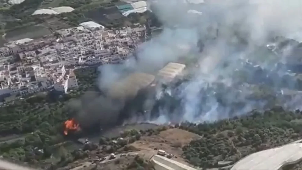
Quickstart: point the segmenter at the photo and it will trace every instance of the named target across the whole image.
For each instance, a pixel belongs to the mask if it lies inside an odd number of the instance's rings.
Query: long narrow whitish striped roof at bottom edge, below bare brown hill
[[[196,168],[189,167],[188,165],[160,155],[154,155],[151,159],[151,163],[155,170],[197,170]]]

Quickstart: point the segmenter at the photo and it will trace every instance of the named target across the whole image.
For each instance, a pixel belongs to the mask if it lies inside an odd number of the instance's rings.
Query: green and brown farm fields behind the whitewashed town
[[[137,20],[128,20],[118,11],[113,12],[111,10],[119,2],[111,2],[111,0],[25,0],[21,4],[7,4],[0,8],[3,23],[3,30],[0,35],[6,34],[7,41],[15,41],[22,38],[40,38],[43,35],[52,34],[51,31],[76,27],[79,23],[89,20],[95,20],[105,25],[108,23],[106,25],[108,27],[125,26],[123,20],[127,21],[126,25],[137,23]],[[0,6],[5,3],[0,2]],[[75,10],[71,13],[62,13],[55,16],[31,15],[37,9],[59,6],[70,6]],[[102,15],[96,16],[96,14],[99,14],[97,11],[103,11],[100,13]]]

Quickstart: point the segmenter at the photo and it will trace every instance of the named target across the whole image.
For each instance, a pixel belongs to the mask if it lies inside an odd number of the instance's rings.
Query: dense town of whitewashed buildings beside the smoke
[[[146,38],[146,27],[108,30],[92,21],[40,39],[21,39],[0,49],[0,95],[28,95],[77,88],[74,69],[119,63]]]

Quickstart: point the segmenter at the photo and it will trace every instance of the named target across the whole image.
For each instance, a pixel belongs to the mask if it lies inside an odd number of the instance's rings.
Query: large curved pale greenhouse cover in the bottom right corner
[[[250,154],[231,170],[281,170],[286,165],[302,161],[302,143],[291,143]]]

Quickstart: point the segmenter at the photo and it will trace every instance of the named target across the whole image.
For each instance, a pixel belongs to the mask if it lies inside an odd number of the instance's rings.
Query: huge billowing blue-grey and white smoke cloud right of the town
[[[101,90],[127,71],[155,74],[168,62],[193,55],[198,56],[199,67],[190,70],[189,81],[157,95],[175,98],[177,107],[170,109],[173,102],[166,101],[166,106],[156,111],[158,116],[148,115],[147,121],[216,121],[284,103],[290,109],[300,108],[299,97],[279,101],[277,96],[281,87],[294,87],[296,83],[286,79],[286,69],[276,69],[277,63],[288,60],[292,45],[278,47],[279,51],[266,45],[273,42],[275,47],[283,42],[276,36],[300,40],[301,1],[208,0],[191,5],[183,0],[160,0],[149,4],[164,31],[140,45],[139,62],[132,57],[120,65],[100,67]],[[204,44],[202,52],[196,48],[198,40]]]

